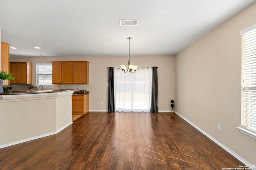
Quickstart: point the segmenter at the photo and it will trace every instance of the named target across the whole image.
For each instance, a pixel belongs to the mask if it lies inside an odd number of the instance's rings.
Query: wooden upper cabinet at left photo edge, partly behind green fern
[[[1,42],[1,71],[7,71],[7,73],[10,73],[9,71],[9,44]],[[11,72],[12,73],[12,72]],[[5,80],[3,82],[4,86],[9,85],[9,81]]]

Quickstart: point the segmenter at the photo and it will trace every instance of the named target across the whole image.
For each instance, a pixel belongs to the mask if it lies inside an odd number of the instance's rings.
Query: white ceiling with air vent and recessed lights
[[[253,2],[0,0],[1,41],[11,57],[128,55],[127,37],[130,55],[174,55]]]

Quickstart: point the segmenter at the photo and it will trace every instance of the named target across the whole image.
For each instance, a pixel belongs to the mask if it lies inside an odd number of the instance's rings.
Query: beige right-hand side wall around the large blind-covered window
[[[239,32],[254,24],[256,3],[175,56],[176,111],[253,165],[256,139],[236,127],[241,125]]]

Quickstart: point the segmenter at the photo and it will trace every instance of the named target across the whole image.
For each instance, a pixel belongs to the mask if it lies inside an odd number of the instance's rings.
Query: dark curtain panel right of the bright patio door
[[[152,94],[151,94],[152,96],[151,96],[151,107],[150,107],[151,113],[158,113],[158,108],[157,108],[157,96],[158,96],[157,68],[158,67],[152,67]]]

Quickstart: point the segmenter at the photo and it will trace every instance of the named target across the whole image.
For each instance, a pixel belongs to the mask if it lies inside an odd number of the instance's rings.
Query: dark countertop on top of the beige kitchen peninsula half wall
[[[0,93],[0,95],[16,95],[16,94],[39,94],[39,93],[56,93],[56,92],[68,92],[79,89],[65,88],[58,90],[34,90],[34,91],[12,91],[11,93]]]

